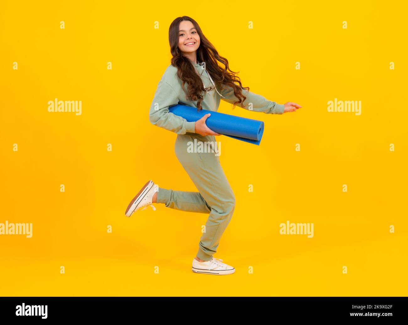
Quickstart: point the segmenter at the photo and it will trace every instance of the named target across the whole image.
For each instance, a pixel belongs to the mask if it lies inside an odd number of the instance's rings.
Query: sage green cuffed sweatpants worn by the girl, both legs
[[[204,143],[215,152],[188,152],[187,148],[194,139],[209,141]],[[159,187],[157,203],[182,211],[209,213],[205,232],[200,238],[197,257],[211,260],[217,252],[220,238],[224,233],[235,208],[235,196],[222,170],[220,157],[216,155],[215,136],[189,136],[177,134],[174,149],[188,176],[190,176],[198,192],[175,191]],[[212,143],[211,143],[212,142]],[[209,148],[209,147],[207,147]]]

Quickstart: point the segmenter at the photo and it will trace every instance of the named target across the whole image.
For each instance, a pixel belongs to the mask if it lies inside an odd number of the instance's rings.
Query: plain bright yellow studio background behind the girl
[[[0,294],[405,296],[406,12],[401,1],[3,1],[0,223],[33,223],[33,237],[0,236]],[[303,106],[220,105],[265,122],[260,146],[216,137],[237,199],[215,254],[236,268],[229,276],[191,271],[206,214],[156,204],[124,216],[149,179],[196,191],[176,134],[148,118],[182,15],[244,86]],[[48,112],[54,98],[82,100],[82,115]],[[329,113],[334,98],[361,100],[361,116]],[[286,220],[314,223],[314,237],[280,235]]]

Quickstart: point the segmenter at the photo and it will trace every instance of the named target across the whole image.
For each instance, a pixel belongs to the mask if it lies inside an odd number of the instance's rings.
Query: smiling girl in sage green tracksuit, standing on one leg
[[[190,176],[198,192],[175,191],[158,187],[149,180],[131,200],[125,215],[144,210],[152,203],[164,203],[166,207],[191,212],[209,213],[205,232],[202,234],[192,270],[203,274],[231,274],[235,268],[214,258],[220,238],[235,208],[235,196],[215,155],[215,136],[220,134],[206,126],[204,115],[196,122],[187,122],[169,111],[177,104],[217,111],[220,100],[241,104],[248,109],[265,114],[284,114],[302,107],[293,102],[277,104],[242,87],[240,78],[228,66],[228,60],[220,56],[202,33],[200,26],[188,16],[178,17],[169,28],[170,51],[173,56],[159,81],[149,112],[153,125],[177,134],[175,154]],[[225,68],[218,65],[221,62]],[[228,72],[230,71],[230,72]],[[237,82],[239,85],[236,85]],[[249,110],[249,109],[248,109]],[[188,152],[188,142],[210,141],[210,152]],[[208,142],[206,142],[208,143]],[[191,150],[190,150],[191,151]],[[195,150],[196,151],[196,150]]]

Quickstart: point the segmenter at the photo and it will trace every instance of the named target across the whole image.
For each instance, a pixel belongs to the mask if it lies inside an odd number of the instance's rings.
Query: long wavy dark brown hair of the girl
[[[191,64],[191,61],[188,58],[182,55],[182,52],[178,47],[179,25],[183,20],[191,21],[200,36],[200,47],[198,47],[196,53],[197,61],[205,62],[206,70],[216,86],[222,87],[222,85],[228,85],[234,89],[234,95],[238,100],[233,103],[233,108],[235,108],[235,105],[243,103],[246,97],[242,94],[242,89],[249,90],[249,87],[242,87],[241,79],[235,75],[237,72],[234,72],[229,68],[228,60],[218,54],[215,47],[204,36],[197,22],[193,18],[182,16],[177,17],[170,25],[169,43],[171,55],[173,56],[171,59],[171,65],[177,67],[177,76],[182,80],[182,88],[184,92],[184,85],[187,83],[186,98],[192,101],[197,100],[197,108],[201,110],[201,102],[204,99],[202,91],[212,90],[213,86],[204,88],[203,82],[200,75],[195,70],[195,67]],[[221,62],[224,65],[224,68],[220,67],[218,62]],[[237,82],[239,86],[236,85],[235,82]],[[245,106],[241,104],[241,107]]]

